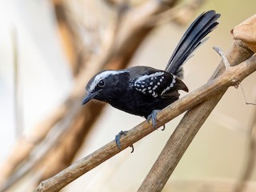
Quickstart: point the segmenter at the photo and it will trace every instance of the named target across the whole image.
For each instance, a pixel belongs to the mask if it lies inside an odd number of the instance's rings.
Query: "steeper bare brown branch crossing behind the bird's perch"
[[[254,53],[247,49],[242,42],[235,41],[231,47],[230,53],[227,54],[230,65],[234,67],[229,67],[227,70],[234,69],[237,67],[235,65],[238,65],[240,62],[250,58],[253,54]],[[254,59],[254,57],[243,63],[252,61],[252,59]],[[215,70],[210,81],[216,77],[221,77],[224,70],[224,64],[221,62],[221,65],[219,65],[218,69]],[[225,73],[226,72],[224,72],[224,74]],[[234,80],[239,79],[234,78],[231,81]],[[172,174],[175,167],[178,165],[179,160],[182,158],[182,155],[190,145],[190,142],[192,142],[194,136],[198,133],[198,130],[202,126],[203,122],[206,121],[206,118],[208,118],[211,111],[214,110],[214,107],[218,104],[218,101],[222,98],[225,91],[226,89],[222,90],[218,94],[215,94],[214,97],[208,98],[205,102],[202,102],[198,106],[195,106],[193,109],[186,112],[182,121],[178,124],[178,127],[171,135],[166,146],[162,150],[162,153],[159,155],[157,161],[151,168],[150,173],[147,174],[138,191],[162,190],[168,178],[170,178],[170,174]]]

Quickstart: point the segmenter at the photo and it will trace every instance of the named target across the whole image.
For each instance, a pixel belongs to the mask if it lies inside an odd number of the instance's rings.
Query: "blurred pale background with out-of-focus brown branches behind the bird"
[[[144,121],[110,105],[81,105],[86,83],[97,71],[138,65],[164,69],[194,18],[216,10],[222,14],[218,28],[186,62],[184,82],[195,90],[221,61],[212,47],[228,52],[230,30],[256,7],[254,0],[167,2],[1,2],[0,191],[32,191],[120,130]],[[231,191],[250,152],[256,109],[246,100],[256,102],[255,81],[251,74],[242,82],[246,99],[241,87],[230,87],[163,191]],[[63,191],[136,191],[181,118],[135,143],[133,154],[122,151]],[[255,180],[253,171],[251,187]]]

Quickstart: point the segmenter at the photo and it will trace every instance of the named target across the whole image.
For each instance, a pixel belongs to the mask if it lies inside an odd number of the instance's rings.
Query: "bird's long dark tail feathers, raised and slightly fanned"
[[[217,19],[220,16],[221,15],[216,14],[214,10],[209,10],[206,13],[199,15],[198,18],[192,22],[182,39],[178,42],[178,46],[175,48],[174,53],[171,55],[166,66],[166,71],[182,78],[182,64],[201,44],[202,39],[218,25]]]

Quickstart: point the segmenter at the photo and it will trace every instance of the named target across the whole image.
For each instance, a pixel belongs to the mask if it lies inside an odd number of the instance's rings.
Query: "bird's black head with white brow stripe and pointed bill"
[[[82,105],[91,99],[110,102],[118,97],[118,93],[122,91],[122,85],[128,83],[128,80],[129,74],[126,70],[104,70],[95,74],[86,86],[87,95],[83,99]]]

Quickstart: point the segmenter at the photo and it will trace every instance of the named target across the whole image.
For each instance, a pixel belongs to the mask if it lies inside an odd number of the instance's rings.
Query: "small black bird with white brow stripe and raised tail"
[[[132,66],[123,70],[103,70],[95,74],[86,85],[86,97],[82,105],[92,99],[107,102],[118,110],[145,117],[156,128],[156,118],[162,110],[178,100],[178,90],[188,92],[183,78],[183,64],[196,48],[218,26],[215,10],[208,10],[191,23],[178,42],[165,70],[150,66]],[[198,70],[198,73],[201,73]],[[121,131],[115,141],[121,150]]]

